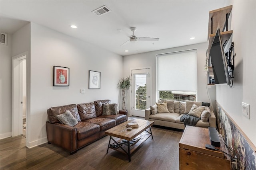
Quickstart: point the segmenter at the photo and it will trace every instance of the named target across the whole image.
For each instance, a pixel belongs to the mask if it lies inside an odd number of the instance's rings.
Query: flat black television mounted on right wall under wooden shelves
[[[215,84],[230,84],[228,65],[220,36],[220,29],[217,30],[212,42],[210,57]]]

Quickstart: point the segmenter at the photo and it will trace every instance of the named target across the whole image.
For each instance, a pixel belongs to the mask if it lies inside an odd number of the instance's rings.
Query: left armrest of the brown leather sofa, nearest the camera
[[[77,150],[76,133],[76,127],[55,123],[54,144],[69,150],[70,154],[73,154]]]

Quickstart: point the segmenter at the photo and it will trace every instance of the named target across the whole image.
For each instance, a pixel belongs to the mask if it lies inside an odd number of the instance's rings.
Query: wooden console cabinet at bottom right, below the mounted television
[[[186,126],[180,139],[180,170],[231,170],[231,160],[223,152],[205,148],[210,144],[208,128]],[[228,153],[221,142],[216,149]]]

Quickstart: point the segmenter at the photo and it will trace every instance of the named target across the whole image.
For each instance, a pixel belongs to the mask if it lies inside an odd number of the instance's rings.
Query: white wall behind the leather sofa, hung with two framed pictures
[[[52,86],[53,66],[70,68],[70,86]],[[101,72],[100,89],[88,89],[89,70]],[[31,107],[29,146],[47,141],[46,110],[52,106],[110,99],[118,102],[122,56],[31,23]],[[80,89],[85,93],[81,94]]]

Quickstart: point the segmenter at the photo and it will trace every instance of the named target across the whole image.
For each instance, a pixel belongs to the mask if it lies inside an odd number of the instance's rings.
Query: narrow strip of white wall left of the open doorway
[[[12,35],[0,44],[0,139],[12,135]]]

